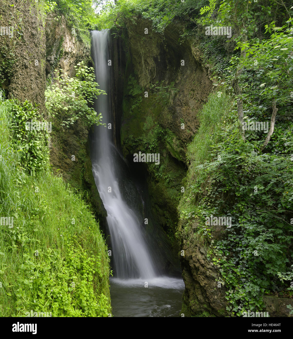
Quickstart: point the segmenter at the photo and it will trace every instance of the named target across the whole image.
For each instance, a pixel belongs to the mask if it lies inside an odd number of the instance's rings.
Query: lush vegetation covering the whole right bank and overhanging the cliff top
[[[162,36],[177,23],[181,43],[198,39],[212,69],[216,91],[188,146],[177,236],[209,248],[232,316],[261,310],[264,294],[293,293],[290,7],[275,0],[120,0],[107,2],[98,19],[100,28],[115,31],[146,18]],[[210,25],[231,27],[231,37],[205,35]],[[251,122],[267,123],[268,129],[245,130]],[[211,214],[232,218],[223,239],[213,238],[213,226],[205,225]]]

